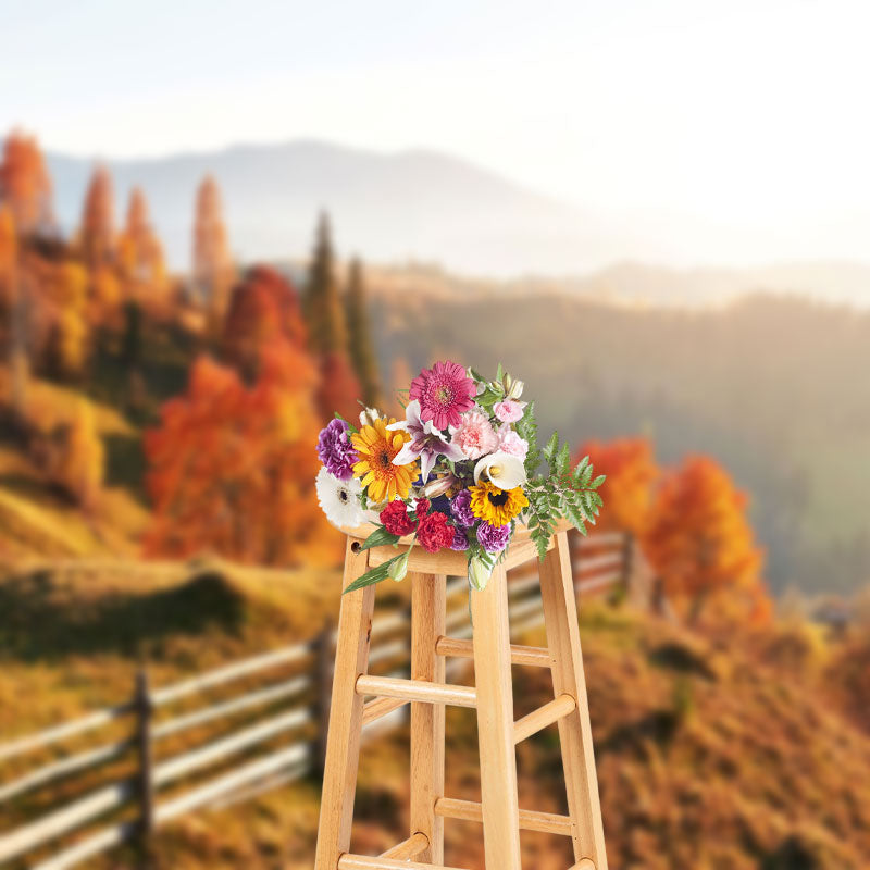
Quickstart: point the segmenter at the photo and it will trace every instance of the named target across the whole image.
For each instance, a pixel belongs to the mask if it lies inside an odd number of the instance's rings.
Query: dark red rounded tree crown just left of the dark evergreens
[[[251,381],[260,371],[263,351],[279,341],[300,350],[307,346],[299,297],[276,270],[258,265],[248,271],[229,298],[223,355]]]

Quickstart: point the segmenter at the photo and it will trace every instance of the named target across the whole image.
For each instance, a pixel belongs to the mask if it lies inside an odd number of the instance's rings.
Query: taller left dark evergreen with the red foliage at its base
[[[353,417],[361,398],[360,386],[348,356],[345,308],[335,276],[335,254],[326,214],[321,215],[318,224],[302,311],[308,324],[309,347],[320,362],[318,407],[321,419],[331,418],[335,411]]]

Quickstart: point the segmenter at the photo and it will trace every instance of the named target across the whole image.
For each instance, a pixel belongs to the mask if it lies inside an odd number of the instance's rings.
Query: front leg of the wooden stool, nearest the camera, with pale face
[[[521,870],[508,584],[502,567],[495,569],[483,592],[471,593],[471,613],[486,870]]]

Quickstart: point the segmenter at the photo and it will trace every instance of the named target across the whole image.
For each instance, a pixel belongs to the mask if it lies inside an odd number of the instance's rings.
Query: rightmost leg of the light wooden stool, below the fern
[[[556,546],[540,566],[540,594],[556,696],[567,693],[576,699],[574,712],[559,720],[568,809],[574,829],[574,859],[589,858],[596,870],[607,870],[576,599],[564,532],[557,535]]]

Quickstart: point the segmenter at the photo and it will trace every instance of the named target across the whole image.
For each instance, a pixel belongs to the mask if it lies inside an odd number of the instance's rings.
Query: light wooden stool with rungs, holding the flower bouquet
[[[511,645],[506,572],[537,551],[518,529],[507,558],[484,592],[471,593],[474,639],[445,636],[447,575],[465,573],[465,554],[412,548],[411,679],[368,674],[375,586],[341,599],[330,733],[314,870],[423,870],[444,868],[444,819],[483,823],[487,870],[521,870],[520,829],[570,836],[570,870],[607,870],[598,782],[571,559],[564,531],[550,540],[540,564],[540,593],[548,649]],[[345,558],[345,586],[396,555],[393,547],[361,550],[368,531],[352,530]],[[405,549],[408,549],[406,546]],[[475,687],[447,685],[445,658],[474,659]],[[511,663],[550,668],[555,698],[513,721]],[[372,700],[364,703],[369,696]],[[376,858],[349,854],[353,797],[363,723],[411,704],[410,836]],[[476,707],[481,804],[444,794],[444,705]],[[521,810],[517,801],[515,745],[558,722],[569,816]],[[445,868],[444,870],[450,870]]]

